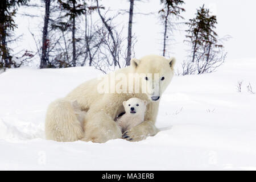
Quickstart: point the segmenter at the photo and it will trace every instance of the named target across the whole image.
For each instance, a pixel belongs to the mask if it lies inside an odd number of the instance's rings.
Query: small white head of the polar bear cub
[[[144,115],[147,108],[147,101],[134,97],[127,101],[123,101],[123,107],[125,107],[125,113],[127,114]]]

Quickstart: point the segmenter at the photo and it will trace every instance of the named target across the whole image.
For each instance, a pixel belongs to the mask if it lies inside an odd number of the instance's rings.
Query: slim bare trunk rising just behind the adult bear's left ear
[[[128,46],[127,46],[127,57],[126,57],[126,65],[129,66],[131,63],[131,39],[132,39],[132,34],[131,34],[131,29],[133,26],[133,5],[134,5],[134,0],[130,0],[130,10],[129,10],[129,26],[128,26]]]

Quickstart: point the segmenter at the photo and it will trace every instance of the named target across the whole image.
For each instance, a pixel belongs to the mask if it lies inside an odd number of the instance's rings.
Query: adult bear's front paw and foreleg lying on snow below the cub
[[[123,139],[129,140],[131,142],[137,142],[144,140],[147,137],[155,136],[158,131],[159,130],[150,121],[144,121],[140,125],[125,131],[125,133],[123,133]]]

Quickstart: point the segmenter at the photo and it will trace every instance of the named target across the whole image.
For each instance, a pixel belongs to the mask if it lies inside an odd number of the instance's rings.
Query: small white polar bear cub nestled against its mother
[[[125,114],[117,119],[117,124],[122,133],[144,121],[147,101],[134,97],[123,101],[123,107],[125,107]]]

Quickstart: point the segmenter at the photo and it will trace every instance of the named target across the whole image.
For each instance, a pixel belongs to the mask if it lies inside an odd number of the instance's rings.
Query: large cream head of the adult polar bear
[[[148,100],[160,100],[174,76],[175,62],[174,57],[166,59],[163,56],[156,55],[131,60],[131,67],[133,67],[134,73],[138,73],[141,89],[146,90],[143,93],[147,94]],[[143,88],[145,85],[146,88]]]

